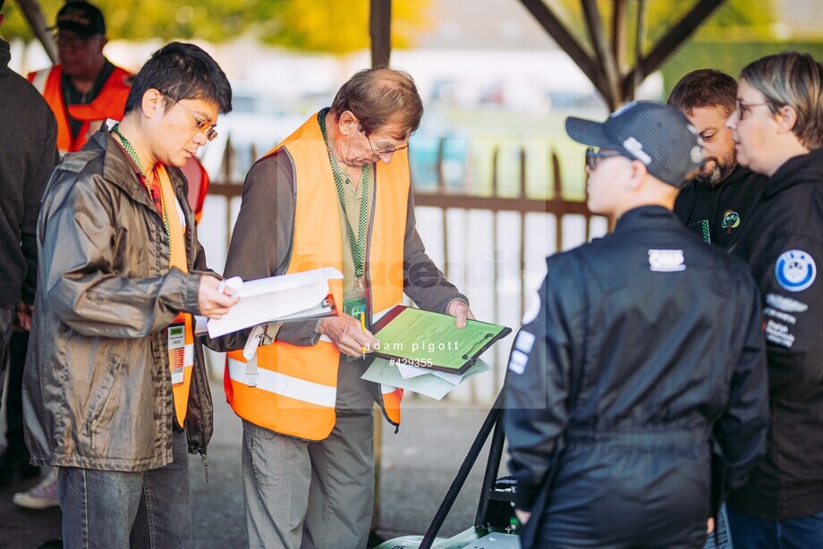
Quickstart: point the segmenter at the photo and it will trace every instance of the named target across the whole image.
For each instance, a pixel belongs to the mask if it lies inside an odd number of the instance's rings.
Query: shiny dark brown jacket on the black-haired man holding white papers
[[[32,462],[140,471],[172,461],[174,401],[165,327],[198,313],[206,257],[182,173],[190,274],[169,269],[163,219],[123,149],[98,131],[67,155],[38,219],[38,294],[23,379]],[[212,402],[195,345],[189,447],[205,452]]]

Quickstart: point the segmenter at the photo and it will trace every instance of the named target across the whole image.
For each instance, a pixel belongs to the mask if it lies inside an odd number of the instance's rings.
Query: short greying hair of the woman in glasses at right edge
[[[797,113],[794,135],[810,150],[823,148],[823,65],[814,57],[767,55],[746,65],[740,78],[766,97],[773,113],[792,106]]]

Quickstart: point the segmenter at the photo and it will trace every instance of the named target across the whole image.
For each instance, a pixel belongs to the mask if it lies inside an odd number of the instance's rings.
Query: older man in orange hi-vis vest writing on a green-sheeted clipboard
[[[355,74],[321,110],[252,166],[226,275],[255,279],[334,266],[342,314],[284,325],[259,347],[256,381],[229,353],[225,391],[243,419],[251,547],[365,547],[374,497],[373,402],[400,423],[402,391],[361,379],[373,320],[407,293],[421,308],[471,317],[415,229],[411,132],[423,106],[404,72]],[[367,324],[370,324],[367,322]],[[223,344],[237,349],[242,341]],[[242,338],[239,338],[242,340]]]

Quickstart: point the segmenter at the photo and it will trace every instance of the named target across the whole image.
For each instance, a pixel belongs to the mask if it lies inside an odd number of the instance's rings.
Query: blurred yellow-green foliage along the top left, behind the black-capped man
[[[64,0],[39,0],[48,25]],[[430,0],[392,3],[392,45],[411,45]],[[271,46],[345,54],[369,46],[369,0],[93,0],[111,39],[208,40],[244,33]],[[6,0],[4,38],[34,38],[16,0]]]

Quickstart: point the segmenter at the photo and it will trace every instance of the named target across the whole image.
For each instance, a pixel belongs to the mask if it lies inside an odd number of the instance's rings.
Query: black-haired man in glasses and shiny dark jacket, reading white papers
[[[67,547],[191,546],[187,449],[205,456],[212,431],[192,315],[236,298],[208,271],[179,168],[231,108],[217,63],[169,44],[123,121],[49,182],[23,406],[32,461],[58,466]]]

